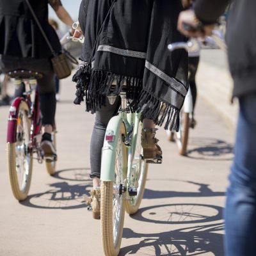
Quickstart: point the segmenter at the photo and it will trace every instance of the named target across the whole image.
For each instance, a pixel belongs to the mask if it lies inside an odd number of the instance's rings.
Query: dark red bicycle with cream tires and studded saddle
[[[37,79],[42,74],[31,70],[13,70],[8,76],[14,78],[16,88],[21,93],[13,100],[8,117],[7,159],[13,195],[17,200],[28,196],[33,169],[33,155],[38,163],[45,160],[47,172],[53,175],[57,156],[44,157],[40,147],[42,139],[42,116],[37,89]],[[56,147],[56,129],[52,132]]]

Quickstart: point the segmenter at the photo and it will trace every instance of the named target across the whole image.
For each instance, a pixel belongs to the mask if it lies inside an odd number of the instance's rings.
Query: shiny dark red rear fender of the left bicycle
[[[18,120],[18,109],[20,103],[25,101],[22,97],[17,97],[12,102],[12,106],[9,109],[8,115],[8,125],[7,125],[7,143],[15,143],[17,141],[16,132],[17,132],[17,120]]]

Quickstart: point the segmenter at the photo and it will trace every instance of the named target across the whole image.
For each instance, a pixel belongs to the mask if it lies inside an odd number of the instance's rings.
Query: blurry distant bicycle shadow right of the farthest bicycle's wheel
[[[234,157],[234,144],[215,138],[190,138],[186,156],[198,160],[229,161]]]

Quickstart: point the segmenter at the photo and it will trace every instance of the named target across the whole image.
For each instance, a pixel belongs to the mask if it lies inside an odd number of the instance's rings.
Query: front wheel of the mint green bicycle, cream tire
[[[141,200],[144,195],[144,190],[145,190],[145,185],[146,185],[146,180],[147,180],[147,173],[148,173],[148,163],[143,161],[143,149],[141,147],[141,125],[139,125],[138,128],[138,136],[136,140],[136,149],[134,153],[134,159],[132,161],[132,168],[135,168],[134,172],[134,179],[132,180],[134,184],[130,185],[132,187],[137,187],[137,195],[136,196],[131,196],[130,200],[125,200],[125,211],[128,214],[134,214],[138,211]],[[140,171],[141,169],[141,171]],[[139,175],[139,176],[138,176]],[[136,186],[137,180],[136,176],[138,176],[138,186]]]

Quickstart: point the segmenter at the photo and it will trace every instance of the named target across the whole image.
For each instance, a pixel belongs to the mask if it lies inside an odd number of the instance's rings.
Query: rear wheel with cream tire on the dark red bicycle
[[[7,143],[7,159],[10,184],[17,200],[25,200],[28,196],[33,169],[32,152],[28,151],[30,142],[31,120],[28,118],[28,105],[20,102],[17,115],[17,141]]]

